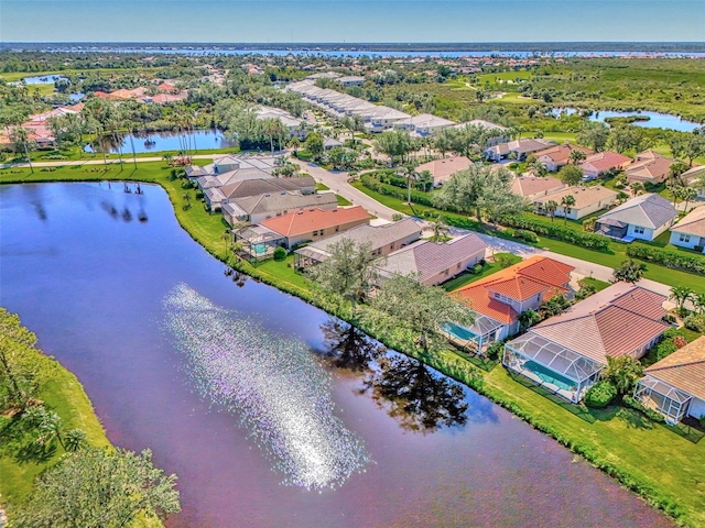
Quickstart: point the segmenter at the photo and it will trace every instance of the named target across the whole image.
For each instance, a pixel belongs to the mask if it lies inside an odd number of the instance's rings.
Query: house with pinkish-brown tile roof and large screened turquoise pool
[[[670,327],[665,296],[629,283],[612,286],[532,327],[505,345],[502,364],[577,404],[608,358],[638,360]]]

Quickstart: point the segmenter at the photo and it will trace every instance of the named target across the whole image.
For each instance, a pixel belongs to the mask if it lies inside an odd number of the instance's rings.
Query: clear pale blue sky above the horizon
[[[705,41],[703,0],[0,0],[2,42]]]

